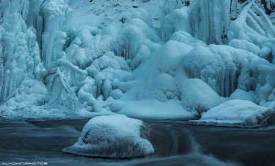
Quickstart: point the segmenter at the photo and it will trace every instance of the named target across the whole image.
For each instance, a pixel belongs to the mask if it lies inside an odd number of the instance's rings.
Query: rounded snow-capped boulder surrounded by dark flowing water
[[[78,142],[63,152],[83,156],[134,158],[154,152],[149,129],[141,120],[125,115],[94,117],[84,126]]]

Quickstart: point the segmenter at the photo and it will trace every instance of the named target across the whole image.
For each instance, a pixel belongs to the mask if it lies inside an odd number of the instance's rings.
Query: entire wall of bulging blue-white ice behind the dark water
[[[268,107],[273,15],[254,0],[2,0],[1,116],[191,118],[232,99]]]

